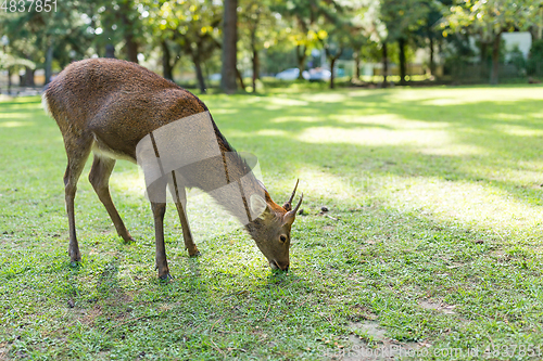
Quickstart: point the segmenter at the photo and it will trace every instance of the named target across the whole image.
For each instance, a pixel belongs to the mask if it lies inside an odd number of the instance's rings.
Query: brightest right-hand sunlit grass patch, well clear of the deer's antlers
[[[417,210],[465,229],[493,229],[500,234],[520,232],[517,236],[543,241],[543,235],[536,235],[536,228],[543,225],[541,204],[521,202],[492,183],[392,176],[381,181],[382,189],[387,190],[383,194],[386,203],[402,211]],[[376,183],[380,184],[379,179]]]

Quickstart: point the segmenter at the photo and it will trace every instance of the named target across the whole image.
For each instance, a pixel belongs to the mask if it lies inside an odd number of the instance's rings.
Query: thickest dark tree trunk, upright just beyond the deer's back
[[[236,92],[237,42],[238,42],[238,0],[225,0],[223,16],[223,69],[220,88],[227,94]]]

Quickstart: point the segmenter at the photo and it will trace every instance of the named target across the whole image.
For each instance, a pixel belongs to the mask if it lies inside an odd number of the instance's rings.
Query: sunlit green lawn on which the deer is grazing
[[[301,179],[291,270],[272,273],[192,197],[202,256],[186,254],[169,206],[167,284],[126,162],[112,194],[137,242],[116,235],[87,165],[83,262],[70,266],[60,131],[38,98],[0,103],[0,359],[348,360],[392,346],[399,358],[540,359],[543,87],[299,87],[202,96],[258,156],[276,202]]]

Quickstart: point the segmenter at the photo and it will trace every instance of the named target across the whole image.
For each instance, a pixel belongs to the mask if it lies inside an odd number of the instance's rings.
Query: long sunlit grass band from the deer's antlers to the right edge
[[[330,201],[343,207],[359,207],[376,198],[400,211],[416,211],[464,229],[494,229],[500,234],[517,233],[517,236],[543,241],[543,235],[536,235],[540,233],[538,227],[543,227],[543,199],[523,202],[493,182],[400,177],[362,170],[356,180],[349,180],[318,167],[302,168],[300,178],[303,180],[300,189],[306,195],[305,205],[316,211]]]

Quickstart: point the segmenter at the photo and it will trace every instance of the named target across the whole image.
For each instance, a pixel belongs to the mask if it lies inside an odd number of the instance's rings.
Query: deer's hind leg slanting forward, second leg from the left
[[[98,156],[94,154],[94,159],[92,162],[92,168],[89,173],[89,181],[92,184],[92,188],[98,194],[100,202],[108,210],[115,229],[117,230],[117,234],[125,240],[125,242],[134,241],[132,236],[126,230],[125,223],[121,216],[118,215],[113,201],[111,199],[110,194],[110,176],[113,171],[113,167],[115,167],[115,159]]]

